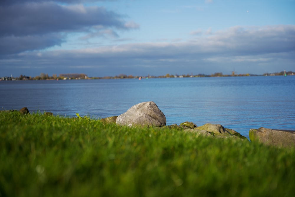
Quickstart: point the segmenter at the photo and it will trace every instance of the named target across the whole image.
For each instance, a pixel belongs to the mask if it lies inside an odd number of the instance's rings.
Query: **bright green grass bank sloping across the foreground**
[[[293,196],[295,150],[0,112],[0,196]]]

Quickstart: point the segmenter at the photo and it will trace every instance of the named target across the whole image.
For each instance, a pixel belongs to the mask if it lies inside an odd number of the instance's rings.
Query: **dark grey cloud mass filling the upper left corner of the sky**
[[[54,1],[1,1],[0,40],[3,44],[0,55],[60,45],[65,42],[66,35],[73,32],[86,32],[89,38],[118,37],[114,29],[140,27],[135,22],[125,21],[125,17],[98,6],[60,5]]]

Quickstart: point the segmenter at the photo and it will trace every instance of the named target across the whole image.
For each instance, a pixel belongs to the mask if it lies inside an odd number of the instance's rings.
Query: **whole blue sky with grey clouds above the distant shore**
[[[0,76],[295,71],[295,0],[1,0]]]

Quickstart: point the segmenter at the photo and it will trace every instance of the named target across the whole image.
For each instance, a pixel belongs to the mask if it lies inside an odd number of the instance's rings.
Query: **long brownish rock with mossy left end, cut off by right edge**
[[[249,138],[251,141],[259,141],[263,144],[278,147],[295,146],[295,131],[260,127],[258,129],[250,129]]]

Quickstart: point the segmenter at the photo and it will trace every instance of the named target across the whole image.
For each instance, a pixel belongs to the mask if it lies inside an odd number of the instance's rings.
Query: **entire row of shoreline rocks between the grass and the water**
[[[9,110],[17,111],[17,110]],[[21,114],[30,114],[29,110],[24,107],[19,110]],[[51,112],[45,112],[45,115],[53,115]],[[204,124],[197,126],[192,122],[183,122],[180,125],[173,124],[166,126],[166,118],[163,112],[158,108],[155,102],[142,102],[132,106],[129,110],[119,116],[102,118],[104,124],[117,124],[126,126],[140,126],[153,128],[173,128],[184,132],[196,133],[196,136],[206,136],[210,138],[232,138],[238,140],[247,140],[235,130],[224,128],[220,124]],[[260,127],[258,129],[250,129],[250,141],[258,141],[260,143],[277,146],[277,147],[295,147],[295,131],[276,130]]]

